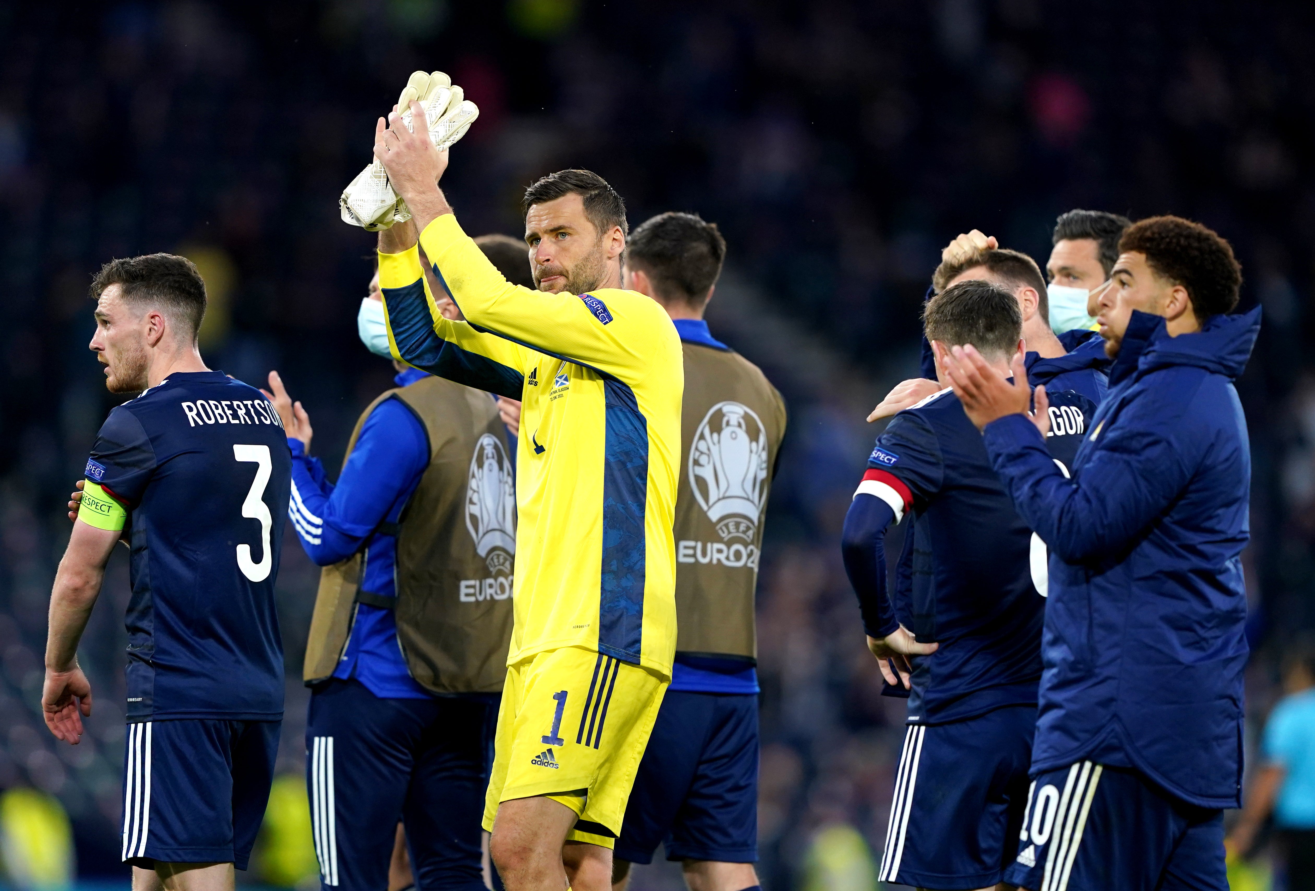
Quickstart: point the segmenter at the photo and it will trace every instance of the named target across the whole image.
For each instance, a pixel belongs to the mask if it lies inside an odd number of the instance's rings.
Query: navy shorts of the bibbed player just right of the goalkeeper
[[[626,804],[615,859],[757,859],[757,696],[667,691]]]

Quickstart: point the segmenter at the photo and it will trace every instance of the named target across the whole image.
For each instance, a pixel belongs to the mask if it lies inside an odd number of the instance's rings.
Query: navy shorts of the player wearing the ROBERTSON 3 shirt
[[[281,726],[224,719],[129,724],[124,862],[245,870],[270,803]]]

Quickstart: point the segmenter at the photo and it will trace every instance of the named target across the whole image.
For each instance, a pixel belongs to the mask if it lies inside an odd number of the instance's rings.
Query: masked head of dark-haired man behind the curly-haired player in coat
[[[1105,211],[1069,211],[1055,221],[1045,275],[1051,283],[1051,329],[1097,330],[1097,300],[1110,286],[1110,270],[1119,259],[1119,238],[1132,221]]]

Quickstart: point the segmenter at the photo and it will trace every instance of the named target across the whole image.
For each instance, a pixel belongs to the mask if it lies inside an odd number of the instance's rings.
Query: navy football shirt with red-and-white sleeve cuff
[[[1051,417],[1063,422],[1052,425],[1047,445],[1068,465],[1097,407],[1072,390],[1049,396]],[[909,721],[959,721],[1035,703],[1044,545],[1014,509],[959,397],[944,390],[899,412],[877,438],[864,480],[860,492],[885,487],[897,519],[914,520],[896,616],[919,641],[940,644],[914,661]]]

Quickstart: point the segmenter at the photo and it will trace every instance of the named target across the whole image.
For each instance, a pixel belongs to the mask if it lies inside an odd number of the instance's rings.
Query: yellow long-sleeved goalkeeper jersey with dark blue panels
[[[634,291],[513,286],[452,215],[419,245],[467,321],[439,315],[414,247],[380,254],[393,354],[522,401],[508,665],[583,646],[669,678],[685,383],[676,326]]]

